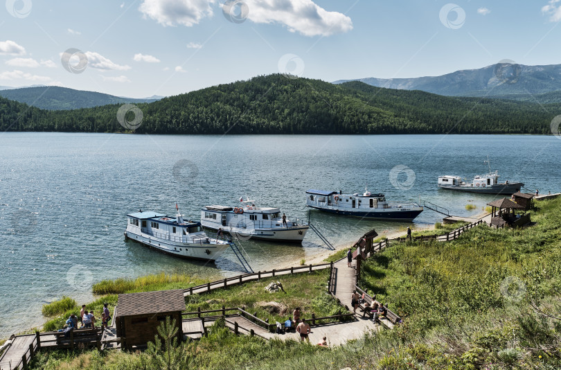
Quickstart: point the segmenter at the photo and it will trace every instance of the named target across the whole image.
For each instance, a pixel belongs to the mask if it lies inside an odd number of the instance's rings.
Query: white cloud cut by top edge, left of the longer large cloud
[[[213,15],[215,0],[143,0],[139,10],[163,26],[193,26]]]

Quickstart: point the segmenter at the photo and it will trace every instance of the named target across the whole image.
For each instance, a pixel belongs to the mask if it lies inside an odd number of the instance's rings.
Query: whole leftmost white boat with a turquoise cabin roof
[[[179,211],[175,216],[139,211],[127,219],[125,237],[173,256],[214,261],[231,245],[208,238],[200,222],[184,220]]]

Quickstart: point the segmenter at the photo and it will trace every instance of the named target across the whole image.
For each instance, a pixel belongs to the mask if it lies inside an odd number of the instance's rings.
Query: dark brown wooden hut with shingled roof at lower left
[[[119,294],[116,313],[117,336],[121,337],[121,348],[144,347],[154,342],[158,326],[175,319],[177,339],[182,340],[181,311],[185,310],[183,290],[160,290]]]

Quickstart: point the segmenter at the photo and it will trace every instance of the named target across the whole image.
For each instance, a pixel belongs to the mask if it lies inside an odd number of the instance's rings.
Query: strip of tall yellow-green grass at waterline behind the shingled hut
[[[150,274],[136,279],[103,280],[91,288],[94,294],[121,294],[154,290],[185,289],[206,283],[187,274]]]

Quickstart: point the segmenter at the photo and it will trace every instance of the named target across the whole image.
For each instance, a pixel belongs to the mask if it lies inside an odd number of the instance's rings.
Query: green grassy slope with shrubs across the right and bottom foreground
[[[393,331],[328,351],[216,331],[185,351],[197,353],[201,369],[559,369],[561,325],[529,303],[560,316],[561,199],[538,206],[528,229],[480,227],[451,243],[393,245],[369,260],[362,286],[404,317]],[[66,356],[69,369],[138,369],[142,357]]]

